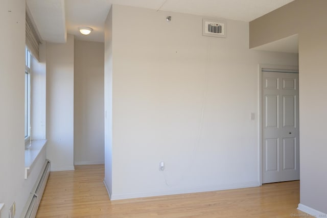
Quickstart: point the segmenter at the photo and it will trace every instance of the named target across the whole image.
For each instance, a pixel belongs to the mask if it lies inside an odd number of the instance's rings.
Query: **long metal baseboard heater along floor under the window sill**
[[[50,173],[50,160],[46,159],[42,171],[31,191],[26,206],[23,212],[21,213],[21,217],[34,218],[36,216],[36,212],[39,207],[46,182],[48,181],[49,173]]]

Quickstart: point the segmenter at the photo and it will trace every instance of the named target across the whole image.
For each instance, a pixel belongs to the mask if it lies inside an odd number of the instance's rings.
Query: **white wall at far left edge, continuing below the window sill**
[[[13,202],[15,217],[20,216],[43,166],[45,152],[25,180],[25,1],[2,1],[0,8],[0,23],[6,29],[0,40],[0,203],[5,203],[0,217],[6,218]]]

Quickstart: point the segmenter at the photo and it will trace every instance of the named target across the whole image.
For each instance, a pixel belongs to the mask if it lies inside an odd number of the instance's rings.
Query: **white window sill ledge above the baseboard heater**
[[[32,140],[31,149],[25,150],[25,179],[29,176],[34,163],[41,151],[45,148],[46,139]]]

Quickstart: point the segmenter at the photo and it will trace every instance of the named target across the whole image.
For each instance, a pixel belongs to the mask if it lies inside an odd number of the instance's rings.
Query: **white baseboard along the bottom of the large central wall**
[[[257,186],[260,186],[260,183],[258,181],[242,183],[242,184],[217,185],[217,186],[210,186],[210,187],[195,187],[195,188],[172,189],[172,190],[162,190],[162,191],[122,193],[122,194],[118,194],[118,195],[111,195],[109,193],[109,191],[108,191],[108,193],[110,195],[110,200],[122,200],[122,199],[131,199],[131,198],[179,195],[179,194],[184,194],[184,193],[218,191],[218,190],[226,190],[226,189],[257,187]]]

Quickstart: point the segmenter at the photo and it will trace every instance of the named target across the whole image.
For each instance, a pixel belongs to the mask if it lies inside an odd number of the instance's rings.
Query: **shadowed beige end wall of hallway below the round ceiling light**
[[[104,43],[75,40],[74,163],[104,163]]]

